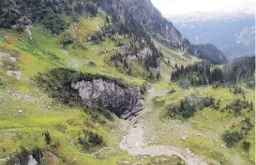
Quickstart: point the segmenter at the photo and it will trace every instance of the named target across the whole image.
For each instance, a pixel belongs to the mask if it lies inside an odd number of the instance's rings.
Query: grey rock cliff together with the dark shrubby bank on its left
[[[121,118],[142,110],[141,89],[108,76],[56,68],[39,74],[38,85],[57,101],[70,106],[106,108]]]

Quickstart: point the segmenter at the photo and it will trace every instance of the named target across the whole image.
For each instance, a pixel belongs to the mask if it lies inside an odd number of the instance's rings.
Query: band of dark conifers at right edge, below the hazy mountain
[[[209,62],[197,62],[175,66],[171,80],[177,81],[185,77],[191,85],[201,86],[213,83],[237,83],[253,80],[255,72],[255,57],[236,59],[223,67],[215,66]]]

